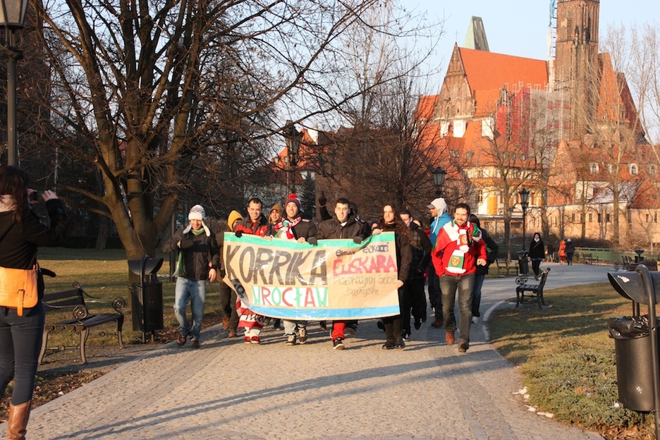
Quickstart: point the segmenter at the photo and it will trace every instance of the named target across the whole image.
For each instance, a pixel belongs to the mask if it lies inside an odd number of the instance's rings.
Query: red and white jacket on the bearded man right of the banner
[[[440,229],[432,254],[438,276],[474,274],[477,259],[486,257],[486,246],[479,227],[469,221],[464,226],[458,226],[453,220]]]

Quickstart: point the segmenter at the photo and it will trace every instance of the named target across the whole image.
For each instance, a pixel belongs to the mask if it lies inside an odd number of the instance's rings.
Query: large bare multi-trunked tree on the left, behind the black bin
[[[362,17],[379,6],[33,0],[54,92],[40,103],[51,114],[44,140],[103,182],[61,186],[102,204],[90,210],[112,219],[129,258],[153,255],[182,193],[201,181],[240,193],[250,166],[270,158],[281,106],[298,105],[302,119],[357,96],[326,85],[343,74],[339,37],[372,27]],[[313,111],[303,113],[304,96]]]

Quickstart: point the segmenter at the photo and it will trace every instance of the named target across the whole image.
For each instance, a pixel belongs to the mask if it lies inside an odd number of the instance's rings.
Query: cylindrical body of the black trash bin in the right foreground
[[[652,412],[654,389],[648,315],[611,318],[607,326],[609,336],[614,339],[619,402],[629,410]]]

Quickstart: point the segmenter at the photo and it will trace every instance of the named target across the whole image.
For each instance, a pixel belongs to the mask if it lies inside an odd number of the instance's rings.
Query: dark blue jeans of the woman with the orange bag
[[[37,360],[44,335],[44,305],[42,302],[24,309],[0,307],[0,396],[14,380],[11,404],[20,405],[32,399],[35,391]]]

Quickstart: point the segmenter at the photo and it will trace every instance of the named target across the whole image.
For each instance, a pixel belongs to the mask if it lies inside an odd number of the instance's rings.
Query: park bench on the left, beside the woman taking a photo
[[[107,324],[109,322],[116,322],[119,348],[123,348],[121,328],[123,326],[124,314],[121,312],[121,309],[126,306],[126,300],[123,298],[114,298],[114,300],[111,301],[111,307],[115,312],[90,314],[90,311],[85,304],[85,296],[87,298],[99,299],[85,292],[85,289],[83,289],[77,281],[73,283],[73,289],[70,291],[47,293],[44,295],[44,308],[46,309],[47,317],[54,314],[54,312],[66,311],[71,312],[73,319],[66,319],[54,324],[49,324],[47,319],[46,326],[44,326],[42,348],[39,353],[39,364],[42,363],[46,350],[53,349],[48,348],[47,346],[48,335],[56,330],[75,331],[75,333],[80,336],[80,360],[83,364],[87,363],[85,345],[87,344],[87,336],[89,336],[92,327]],[[62,348],[57,347],[54,349],[61,350]]]

